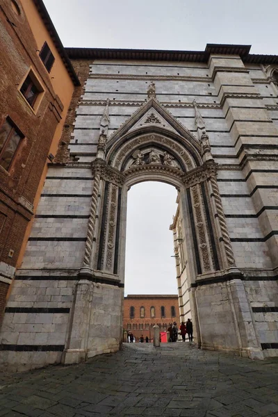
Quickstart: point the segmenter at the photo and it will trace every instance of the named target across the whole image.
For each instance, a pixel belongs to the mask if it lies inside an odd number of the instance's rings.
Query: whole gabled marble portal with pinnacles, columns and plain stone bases
[[[250,307],[222,208],[218,165],[194,106],[198,139],[154,97],[107,142],[107,123],[101,126],[97,158],[92,162],[83,265],[74,277],[65,345],[58,361],[78,363],[120,347],[126,199],[129,188],[142,181],[162,181],[178,190],[185,291],[198,347],[263,358],[252,319],[243,320]],[[106,122],[107,108],[108,103]],[[47,357],[44,364],[50,360]]]

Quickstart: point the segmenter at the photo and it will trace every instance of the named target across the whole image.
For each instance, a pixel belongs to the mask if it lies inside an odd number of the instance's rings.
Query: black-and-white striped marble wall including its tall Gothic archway
[[[140,181],[178,190],[179,306],[197,345],[276,355],[278,56],[221,44],[67,54],[82,88],[10,293],[2,363],[76,363],[119,348],[127,193]]]

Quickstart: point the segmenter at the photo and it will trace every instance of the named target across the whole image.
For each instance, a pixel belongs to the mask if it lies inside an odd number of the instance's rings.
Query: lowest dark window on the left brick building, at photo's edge
[[[17,129],[10,118],[7,117],[0,128],[0,165],[6,171],[8,171],[13,162],[22,138],[24,138],[24,135]]]

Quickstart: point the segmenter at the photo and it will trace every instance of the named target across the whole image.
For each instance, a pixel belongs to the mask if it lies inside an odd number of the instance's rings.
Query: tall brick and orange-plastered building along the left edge
[[[42,0],[1,1],[0,51],[1,322],[79,79]]]

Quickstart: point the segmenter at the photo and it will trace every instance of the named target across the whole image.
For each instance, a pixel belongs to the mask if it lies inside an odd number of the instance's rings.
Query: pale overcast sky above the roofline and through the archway
[[[24,1],[24,0],[23,0]],[[278,54],[278,0],[44,0],[65,47],[204,50],[252,44]],[[177,293],[172,232],[176,190],[141,183],[129,191],[126,293]]]

